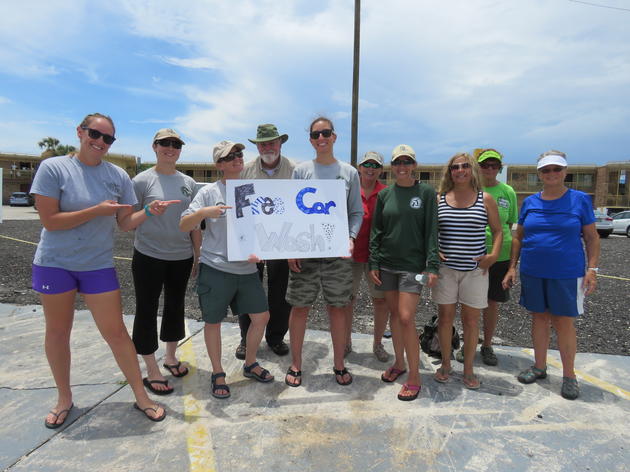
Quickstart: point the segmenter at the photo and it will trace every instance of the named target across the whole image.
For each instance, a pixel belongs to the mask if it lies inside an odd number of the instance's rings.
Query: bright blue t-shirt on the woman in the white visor
[[[540,193],[527,197],[518,218],[524,229],[521,272],[544,279],[583,277],[582,227],[594,222],[591,198],[578,190],[555,200]]]

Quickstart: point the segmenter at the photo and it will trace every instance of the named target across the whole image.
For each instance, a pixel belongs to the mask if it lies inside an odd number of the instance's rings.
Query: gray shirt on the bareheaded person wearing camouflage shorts
[[[346,184],[346,205],[348,208],[348,230],[350,237],[356,238],[363,222],[363,203],[359,173],[350,164],[336,161],[322,165],[315,160],[302,162],[293,170],[294,179],[342,179]]]

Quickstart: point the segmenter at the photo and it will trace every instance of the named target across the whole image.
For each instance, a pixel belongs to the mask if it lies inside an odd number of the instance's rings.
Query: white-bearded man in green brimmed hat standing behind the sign
[[[290,179],[295,164],[282,156],[280,150],[289,136],[280,135],[272,124],[258,126],[256,138],[249,141],[258,148],[259,156],[245,165],[241,179]],[[289,346],[284,342],[284,335],[289,329],[291,305],[285,300],[289,280],[289,266],[286,260],[264,261],[258,264],[260,278],[267,266],[267,301],[269,303],[269,323],[265,333],[267,344],[279,356],[289,353]],[[249,315],[240,315],[241,343],[236,348],[236,357],[245,359],[245,339],[249,328]]]

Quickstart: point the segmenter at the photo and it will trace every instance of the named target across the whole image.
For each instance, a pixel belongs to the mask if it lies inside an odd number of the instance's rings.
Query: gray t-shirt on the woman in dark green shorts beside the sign
[[[217,181],[201,188],[182,216],[190,215],[207,206],[225,205],[225,184]],[[233,211],[233,210],[228,210]],[[218,218],[206,218],[206,229],[201,242],[200,262],[230,274],[253,274],[256,264],[247,261],[227,260],[227,218],[225,212]]]

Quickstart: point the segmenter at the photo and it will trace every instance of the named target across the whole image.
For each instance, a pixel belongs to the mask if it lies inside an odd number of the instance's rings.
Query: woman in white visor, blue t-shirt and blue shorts
[[[591,198],[564,185],[566,155],[547,151],[540,155],[536,167],[543,189],[523,202],[512,239],[510,268],[503,280],[505,288],[512,286],[520,256],[520,304],[532,313],[535,363],[521,372],[518,380],[529,384],[547,377],[553,325],[562,359],[561,394],[574,400],[580,394],[574,371],[574,319],[584,313],[584,296],[593,293],[597,285],[599,236]],[[586,245],[586,273],[582,239]]]

